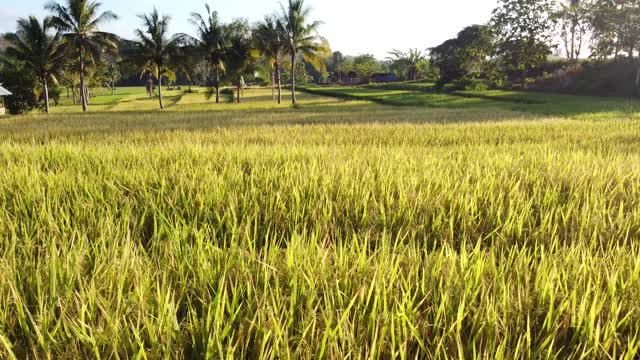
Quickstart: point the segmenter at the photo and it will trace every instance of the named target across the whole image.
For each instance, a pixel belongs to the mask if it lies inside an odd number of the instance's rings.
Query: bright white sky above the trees
[[[45,0],[2,0],[0,33],[15,31],[20,17],[44,16]],[[46,0],[48,1],[48,0]],[[204,13],[208,2],[224,21],[246,18],[251,22],[280,9],[280,0],[100,0],[103,10],[120,16],[103,30],[133,38],[138,14],[155,6],[171,16],[172,32],[193,34],[188,23],[193,11]],[[284,0],[283,0],[284,1]],[[454,37],[463,27],[486,23],[496,0],[306,0],[311,18],[323,21],[320,35],[333,51],[345,55],[373,54],[384,59],[392,49],[426,49]]]

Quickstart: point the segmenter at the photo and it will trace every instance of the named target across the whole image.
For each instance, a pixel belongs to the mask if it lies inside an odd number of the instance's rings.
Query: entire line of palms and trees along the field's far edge
[[[428,79],[439,88],[476,90],[526,87],[586,55],[590,61],[635,64],[634,79],[625,81],[640,87],[640,0],[498,0],[487,24],[468,26],[425,50],[392,50],[383,60],[332,53],[304,0],[288,0],[256,24],[223,23],[207,5],[204,13],[190,16],[193,35],[171,34],[170,17],[154,9],[139,16],[132,40],[101,31],[118,17],[100,11],[98,2],[50,2],[45,9],[49,16],[20,19],[16,32],[3,38],[0,76],[13,85],[11,102],[18,108],[41,100],[48,111],[50,92],[55,100],[64,87],[86,111],[93,88],[107,84],[113,91],[118,81],[131,79],[145,81],[150,96],[157,89],[160,108],[163,84],[176,82],[206,86],[216,103],[229,85],[239,102],[247,78],[270,83],[278,103],[287,84],[294,104],[296,84],[310,78],[338,84]],[[552,55],[565,61],[553,63]]]

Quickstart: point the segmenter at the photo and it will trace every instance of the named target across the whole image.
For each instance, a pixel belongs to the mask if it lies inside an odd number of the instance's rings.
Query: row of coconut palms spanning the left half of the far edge
[[[322,58],[330,54],[328,42],[318,34],[321,23],[310,20],[311,10],[304,0],[288,0],[279,12],[253,26],[244,19],[223,23],[207,5],[204,14],[191,14],[195,35],[171,34],[171,18],[153,9],[138,16],[141,26],[133,40],[101,30],[118,16],[101,11],[97,1],[49,2],[44,8],[49,16],[20,19],[17,30],[4,35],[7,49],[1,74],[3,81],[15,86],[12,102],[18,111],[33,108],[42,99],[48,113],[50,88],[59,91],[61,84],[71,89],[74,102],[77,92],[87,111],[90,85],[106,83],[113,90],[123,69],[140,72],[147,79],[150,96],[157,88],[159,106],[164,108],[163,82],[178,75],[190,83],[200,75],[216,103],[221,86],[233,84],[240,102],[244,76],[258,69],[266,69],[277,84],[280,103],[282,72],[287,67],[296,104],[296,69],[304,62],[326,71]]]

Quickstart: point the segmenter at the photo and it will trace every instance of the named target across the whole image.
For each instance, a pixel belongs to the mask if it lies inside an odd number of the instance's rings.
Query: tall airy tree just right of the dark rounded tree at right
[[[551,55],[553,0],[499,0],[491,25],[496,52],[513,76],[530,76]]]

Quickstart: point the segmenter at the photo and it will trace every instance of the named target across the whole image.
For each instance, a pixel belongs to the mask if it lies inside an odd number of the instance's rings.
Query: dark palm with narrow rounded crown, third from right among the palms
[[[225,63],[227,72],[236,85],[238,96],[236,100],[240,103],[241,91],[244,85],[243,75],[250,70],[250,66],[255,59],[256,52],[251,43],[251,28],[245,21],[238,20],[227,25],[229,35],[229,48],[226,52]]]

